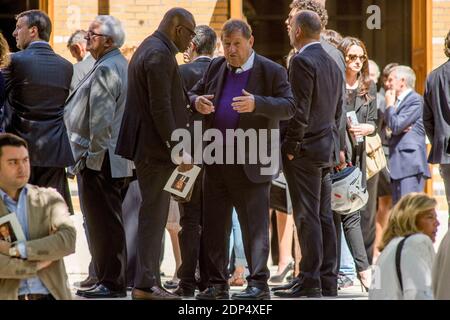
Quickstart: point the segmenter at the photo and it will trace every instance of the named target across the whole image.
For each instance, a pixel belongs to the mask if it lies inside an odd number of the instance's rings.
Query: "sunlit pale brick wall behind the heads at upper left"
[[[102,0],[100,0],[102,4]],[[55,0],[54,49],[73,61],[66,43],[76,29],[87,29],[98,13],[97,0]],[[227,0],[110,0],[109,14],[122,21],[126,42],[124,47],[138,46],[158,27],[164,13],[173,7],[192,12],[197,25],[207,24],[219,32],[228,19]]]

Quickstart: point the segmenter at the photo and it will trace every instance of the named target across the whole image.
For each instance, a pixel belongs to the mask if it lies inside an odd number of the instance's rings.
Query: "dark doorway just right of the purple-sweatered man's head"
[[[282,65],[291,49],[284,20],[292,0],[244,0],[244,15],[253,29],[257,53]]]

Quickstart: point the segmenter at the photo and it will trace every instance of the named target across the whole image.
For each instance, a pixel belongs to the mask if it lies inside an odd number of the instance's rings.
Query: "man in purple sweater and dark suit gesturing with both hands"
[[[206,165],[202,241],[209,287],[196,296],[200,300],[229,297],[227,243],[233,207],[239,216],[250,275],[248,287],[232,298],[270,298],[269,186],[278,173],[280,157],[279,135],[273,139],[273,133],[278,133],[280,120],[293,116],[295,103],[286,70],[256,54],[253,41],[246,22],[227,21],[222,27],[225,57],[214,59],[203,79],[189,93],[196,111],[204,115],[206,129],[216,129],[215,161],[205,157],[207,148],[203,159]],[[237,147],[234,145],[239,133],[250,137],[244,139],[242,148],[239,142]],[[256,147],[260,149],[256,151]],[[260,156],[262,150],[271,151],[272,163]],[[221,151],[223,157],[219,156]]]

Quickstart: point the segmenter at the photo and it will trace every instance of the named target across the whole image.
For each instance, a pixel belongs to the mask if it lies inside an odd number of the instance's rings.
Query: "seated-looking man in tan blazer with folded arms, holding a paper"
[[[70,300],[63,258],[75,252],[75,227],[63,197],[29,178],[26,141],[1,134],[0,217],[14,212],[26,241],[0,240],[0,300]]]

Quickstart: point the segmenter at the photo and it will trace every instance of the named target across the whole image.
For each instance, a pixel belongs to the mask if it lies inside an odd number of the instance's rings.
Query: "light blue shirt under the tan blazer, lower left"
[[[28,228],[28,214],[27,214],[27,186],[23,187],[20,191],[19,201],[14,201],[10,198],[2,189],[0,189],[0,197],[3,200],[6,208],[9,212],[15,212],[17,215],[17,220],[22,227],[23,233],[27,240],[30,239],[30,232]],[[19,242],[16,244],[17,250],[20,253],[22,259],[27,258],[27,250],[25,243]],[[49,294],[50,292],[44,286],[39,277],[32,277],[20,281],[19,296],[24,294]]]

